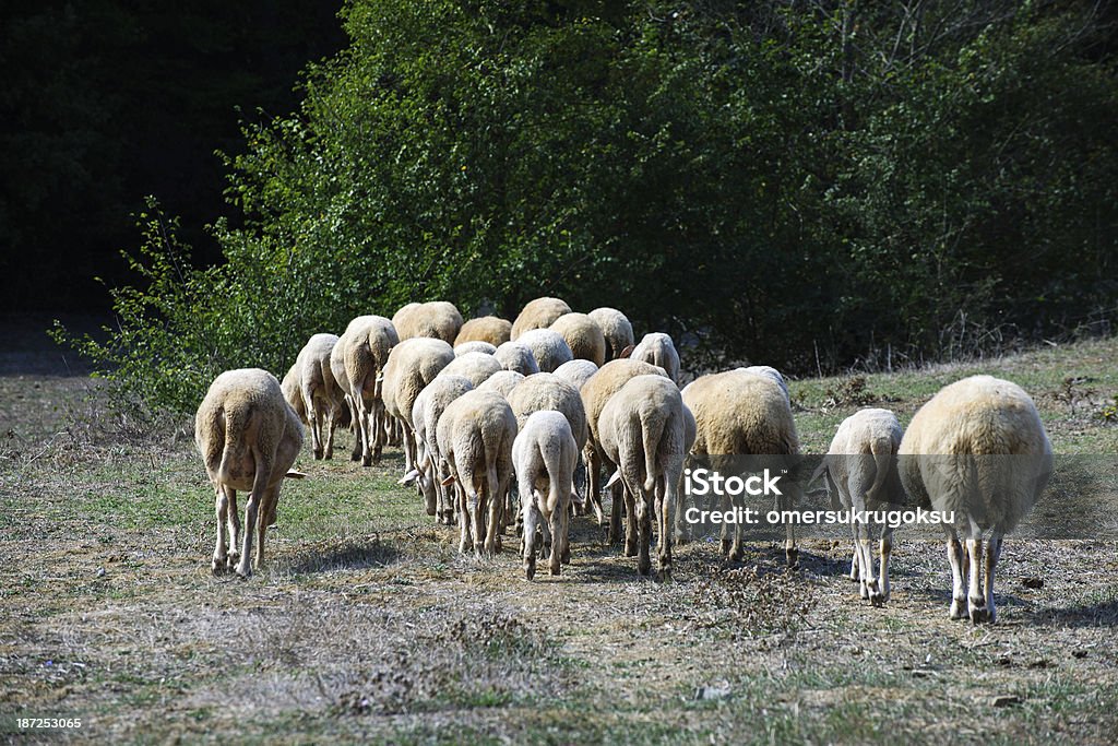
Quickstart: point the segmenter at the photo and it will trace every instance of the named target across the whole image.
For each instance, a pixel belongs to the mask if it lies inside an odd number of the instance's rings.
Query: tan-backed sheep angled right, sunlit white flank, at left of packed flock
[[[424,386],[454,361],[454,348],[440,339],[415,337],[392,348],[385,363],[385,408],[401,421],[404,473],[416,466],[415,425],[411,408]]]

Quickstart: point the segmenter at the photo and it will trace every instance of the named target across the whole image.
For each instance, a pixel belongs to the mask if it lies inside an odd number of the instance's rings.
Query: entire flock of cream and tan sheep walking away
[[[608,520],[610,541],[622,540],[624,522],[625,555],[637,557],[641,575],[651,573],[655,533],[657,568],[670,577],[673,535],[686,539],[684,459],[794,457],[799,442],[775,369],[711,374],[681,391],[671,338],[651,333],[635,342],[619,311],[574,313],[553,298],[530,302],[512,323],[495,317],[463,322],[447,302],[409,303],[391,320],[363,315],[341,337],[315,334],[282,384],[260,369],[221,374],[195,431],[217,493],[214,573],[248,577],[254,533],[255,565],[263,561],[283,480],[303,476],[291,468],[305,424],[315,459],[332,456],[339,427],[353,431],[351,457],[364,465],[378,463],[386,445],[401,446],[400,482],[415,485],[439,523],[458,526],[463,554],[492,557],[509,527],[520,523],[527,577],[538,554],[558,575],[570,561],[571,514],[593,511],[599,526]],[[1030,457],[1007,465],[983,456]],[[954,510],[955,526],[945,526],[951,616],[993,622],[1003,536],[1036,501],[1050,466],[1051,446],[1029,396],[1012,383],[975,376],[944,388],[903,434],[891,412],[852,415],[815,476],[847,509],[902,502],[903,491],[917,504]],[[797,489],[780,500],[794,504]],[[244,533],[238,490],[249,494]],[[853,533],[851,579],[880,605],[889,597],[891,530],[881,536],[880,575],[866,527]],[[722,548],[740,559],[740,523],[732,541],[723,532]],[[786,556],[795,566],[790,523]]]

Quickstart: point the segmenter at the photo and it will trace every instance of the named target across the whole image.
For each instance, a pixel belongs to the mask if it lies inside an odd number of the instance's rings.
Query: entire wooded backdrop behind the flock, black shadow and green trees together
[[[105,277],[150,402],[428,299],[794,375],[1112,331],[1116,3],[181,4],[0,30],[4,303]]]

